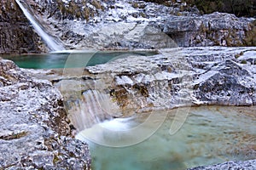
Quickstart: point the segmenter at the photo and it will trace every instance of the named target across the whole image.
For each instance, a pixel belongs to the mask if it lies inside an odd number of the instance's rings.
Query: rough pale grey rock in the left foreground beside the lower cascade
[[[0,60],[0,168],[90,169],[88,145],[72,138],[61,94]]]

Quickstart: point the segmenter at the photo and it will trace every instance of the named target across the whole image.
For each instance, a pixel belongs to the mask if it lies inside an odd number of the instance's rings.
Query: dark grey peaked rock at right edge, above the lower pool
[[[226,60],[199,76],[199,81],[203,80],[195,83],[195,97],[207,104],[253,105],[256,84],[249,77],[249,71]]]

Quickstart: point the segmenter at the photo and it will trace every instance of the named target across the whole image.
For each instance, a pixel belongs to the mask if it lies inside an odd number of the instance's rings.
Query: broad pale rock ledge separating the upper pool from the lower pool
[[[119,105],[113,116],[184,105],[256,105],[255,49],[162,49],[152,56],[116,57],[74,78],[64,74],[52,81],[68,105],[76,105],[79,95],[91,89],[107,95]]]

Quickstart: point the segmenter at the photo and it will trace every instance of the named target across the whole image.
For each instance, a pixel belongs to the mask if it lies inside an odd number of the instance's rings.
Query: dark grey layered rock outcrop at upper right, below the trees
[[[241,46],[245,45],[247,31],[253,29],[251,22],[233,14],[213,13],[174,17],[161,26],[178,46]]]

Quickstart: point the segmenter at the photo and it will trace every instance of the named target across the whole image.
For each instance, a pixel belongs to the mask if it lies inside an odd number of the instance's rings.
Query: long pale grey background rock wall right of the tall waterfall
[[[252,45],[248,41],[255,35],[254,19],[221,13],[201,15],[187,3],[27,2],[38,19],[44,20],[45,28],[67,48],[230,47]]]

